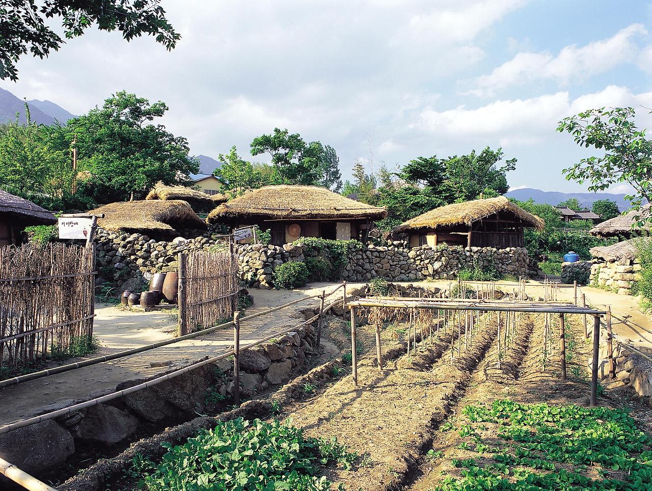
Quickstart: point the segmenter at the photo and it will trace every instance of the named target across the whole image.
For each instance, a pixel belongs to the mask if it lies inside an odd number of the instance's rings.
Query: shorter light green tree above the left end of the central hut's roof
[[[224,186],[231,196],[239,196],[245,191],[262,186],[278,184],[278,172],[265,164],[252,164],[238,155],[235,146],[224,155],[220,154],[222,166],[217,168],[213,175]]]

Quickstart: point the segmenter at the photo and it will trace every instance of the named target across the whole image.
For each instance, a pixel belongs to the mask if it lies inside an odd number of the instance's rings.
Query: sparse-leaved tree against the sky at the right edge
[[[638,130],[633,108],[591,109],[564,118],[557,131],[573,136],[578,145],[594,147],[600,156],[582,158],[564,169],[566,179],[589,183],[589,191],[599,191],[615,183],[628,183],[634,192],[625,199],[640,209],[652,202],[652,141]],[[652,220],[652,218],[651,218]]]

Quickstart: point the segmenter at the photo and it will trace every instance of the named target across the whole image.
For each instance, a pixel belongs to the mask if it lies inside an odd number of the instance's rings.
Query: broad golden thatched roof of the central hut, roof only
[[[318,186],[265,186],[246,192],[209,213],[209,222],[233,218],[351,220],[385,218],[385,208],[349,200]]]

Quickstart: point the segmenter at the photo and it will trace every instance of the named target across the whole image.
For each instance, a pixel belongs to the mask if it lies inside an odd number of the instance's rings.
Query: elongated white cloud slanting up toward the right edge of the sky
[[[477,88],[471,93],[492,95],[512,85],[540,79],[552,79],[563,84],[606,72],[623,63],[636,61],[639,52],[636,38],[645,34],[647,31],[642,24],[632,24],[608,39],[581,47],[566,46],[556,56],[550,52],[517,53],[510,61],[494,68],[491,74],[479,77]]]

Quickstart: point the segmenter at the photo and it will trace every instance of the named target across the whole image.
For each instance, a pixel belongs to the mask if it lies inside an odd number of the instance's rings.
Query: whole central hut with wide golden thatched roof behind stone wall
[[[299,237],[366,239],[371,220],[387,211],[349,200],[318,186],[265,186],[216,207],[209,223],[271,230],[272,243],[282,245]]]

